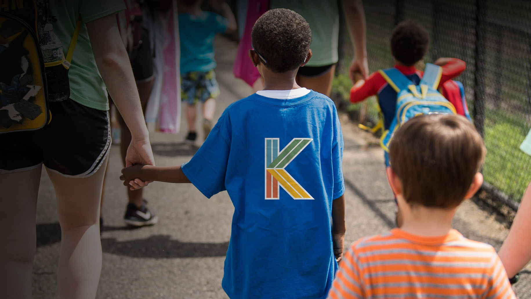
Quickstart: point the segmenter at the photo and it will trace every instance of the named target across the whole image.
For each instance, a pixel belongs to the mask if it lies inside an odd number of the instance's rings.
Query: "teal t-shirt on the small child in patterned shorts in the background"
[[[227,30],[227,19],[219,14],[179,14],[181,74],[206,72],[216,67],[212,46],[217,32]]]

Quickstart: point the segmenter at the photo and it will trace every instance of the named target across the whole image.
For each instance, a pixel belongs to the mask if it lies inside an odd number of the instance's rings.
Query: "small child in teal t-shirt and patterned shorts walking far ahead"
[[[203,103],[203,131],[207,138],[219,96],[216,81],[216,61],[212,46],[217,32],[236,31],[236,19],[227,3],[220,9],[224,16],[201,10],[203,0],[179,0],[179,39],[181,40],[181,99],[186,102],[188,135],[185,142],[193,144],[195,131],[195,104]]]

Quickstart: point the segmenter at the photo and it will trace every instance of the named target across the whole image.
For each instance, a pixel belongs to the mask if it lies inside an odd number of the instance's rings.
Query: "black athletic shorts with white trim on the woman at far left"
[[[0,174],[42,164],[66,177],[88,177],[99,169],[110,148],[108,112],[72,99],[49,105],[52,119],[41,130],[0,134]]]

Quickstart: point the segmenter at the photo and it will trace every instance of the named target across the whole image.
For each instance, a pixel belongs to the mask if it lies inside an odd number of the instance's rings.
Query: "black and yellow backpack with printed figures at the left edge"
[[[52,28],[48,0],[0,2],[0,134],[41,129],[51,119],[48,103],[70,97],[68,69],[81,24],[64,57],[62,47],[43,47]]]

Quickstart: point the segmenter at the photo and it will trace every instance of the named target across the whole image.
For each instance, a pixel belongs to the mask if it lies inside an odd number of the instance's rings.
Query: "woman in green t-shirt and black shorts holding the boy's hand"
[[[61,225],[61,298],[95,298],[101,271],[99,209],[110,144],[107,92],[132,133],[126,164],[154,165],[148,130],[116,12],[123,0],[49,0],[63,52],[82,19],[68,73],[70,98],[50,102],[44,129],[0,135],[0,295],[31,298],[36,206],[42,165],[56,193]],[[64,46],[66,45],[66,46]],[[147,182],[136,181],[136,187]]]

